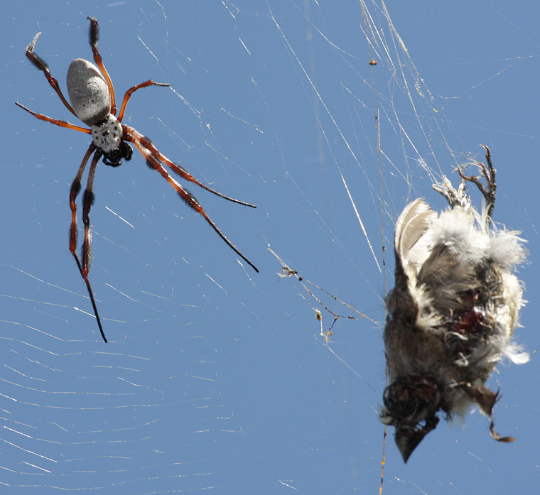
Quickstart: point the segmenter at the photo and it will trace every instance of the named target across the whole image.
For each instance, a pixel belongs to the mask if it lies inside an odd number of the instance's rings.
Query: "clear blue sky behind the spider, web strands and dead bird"
[[[517,337],[532,359],[499,366],[491,383],[502,391],[497,430],[517,441],[494,442],[476,412],[465,428],[441,423],[404,465],[389,431],[383,492],[536,486],[534,7],[44,5],[2,16],[11,111],[1,181],[0,484],[9,493],[376,492],[394,222],[414,197],[443,207],[431,184],[442,174],[456,183],[455,166],[482,160],[480,143],[498,170],[495,219],[522,230],[531,251]],[[12,104],[72,120],[23,49],[43,31],[36,52],[65,87],[70,60],[91,58],[87,15],[99,20],[117,98],[148,78],[171,82],[137,92],[126,123],[203,182],[258,205],[191,188],[259,267],[255,276],[141,157],[100,164],[90,278],[107,345],[67,243],[68,190],[87,136]],[[340,319],[327,343],[314,308],[323,330],[332,315],[292,278],[279,280],[269,248],[374,322]]]

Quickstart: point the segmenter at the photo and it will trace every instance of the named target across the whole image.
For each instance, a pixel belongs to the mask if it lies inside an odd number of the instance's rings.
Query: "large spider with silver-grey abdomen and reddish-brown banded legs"
[[[158,148],[153,145],[152,141],[146,136],[140,134],[133,127],[127,126],[126,124],[121,124],[122,119],[124,118],[124,112],[126,111],[126,105],[131,97],[131,94],[136,92],[137,89],[148,86],[170,86],[163,82],[156,82],[153,80],[148,80],[141,82],[139,85],[130,87],[126,94],[124,94],[124,99],[122,100],[120,111],[118,116],[117,114],[117,104],[114,97],[114,89],[112,87],[112,81],[109,77],[109,73],[103,65],[103,60],[101,55],[99,55],[99,50],[97,50],[97,42],[99,40],[99,26],[97,24],[97,19],[95,17],[88,17],[90,21],[90,31],[89,31],[89,42],[90,48],[92,48],[92,53],[94,55],[94,61],[97,64],[92,64],[88,60],[82,58],[77,58],[73,60],[68,67],[67,75],[67,87],[68,94],[70,97],[69,104],[65,99],[58,81],[51,75],[47,63],[39,57],[35,52],[36,42],[41,35],[37,33],[34,36],[32,43],[26,48],[26,57],[32,62],[32,64],[43,72],[47,78],[49,84],[53,87],[58,97],[62,100],[65,107],[80,119],[87,127],[75,126],[70,124],[67,121],[53,119],[52,117],[38,114],[31,109],[28,109],[16,102],[18,107],[21,107],[23,110],[28,111],[28,113],[35,116],[37,119],[50,122],[56,126],[65,127],[67,129],[73,129],[74,131],[83,132],[85,134],[92,135],[92,143],[88,147],[85,156],[82,158],[77,175],[72,182],[70,188],[70,210],[71,210],[71,225],[70,225],[70,252],[75,258],[77,267],[79,268],[80,274],[86,283],[86,288],[88,290],[88,295],[90,295],[90,300],[92,302],[92,308],[97,320],[97,326],[99,327],[99,332],[101,332],[104,342],[107,342],[105,337],[101,320],[99,319],[99,313],[97,311],[97,305],[94,298],[94,293],[92,292],[92,287],[90,285],[90,280],[88,278],[88,272],[90,271],[90,208],[95,200],[94,192],[92,192],[94,176],[99,162],[99,158],[103,157],[103,163],[111,167],[118,167],[121,165],[122,159],[126,161],[131,160],[131,155],[133,153],[133,148],[131,144],[139,150],[143,158],[146,160],[146,165],[151,170],[156,170],[160,173],[161,176],[178,192],[180,198],[195,212],[198,212],[205,218],[205,220],[210,224],[210,227],[217,232],[217,234],[225,241],[225,243],[244,261],[246,261],[249,266],[251,266],[254,271],[257,273],[259,270],[254,264],[249,261],[249,259],[244,256],[236,246],[232,244],[229,239],[221,232],[217,225],[210,219],[210,217],[205,212],[204,208],[200,205],[198,200],[195,199],[193,194],[189,192],[185,187],[180,185],[166,169],[167,165],[171,170],[180,175],[181,178],[188,180],[203,189],[212,192],[219,197],[222,197],[225,200],[239,203],[239,205],[249,206],[256,208],[254,205],[249,203],[235,200],[232,197],[223,195],[221,192],[213,190],[211,187],[200,183],[197,179],[191,175],[188,170],[180,167],[177,163],[169,160],[166,156],[158,151]],[[99,67],[99,69],[98,69]],[[101,70],[101,72],[99,72]],[[130,144],[131,143],[131,144]],[[85,236],[84,241],[82,242],[82,254],[81,259],[77,256],[77,206],[75,200],[77,195],[80,192],[81,188],[81,179],[82,174],[85,171],[87,162],[92,157],[92,162],[90,163],[90,171],[88,172],[87,185],[84,194],[82,195],[82,222],[85,226]]]

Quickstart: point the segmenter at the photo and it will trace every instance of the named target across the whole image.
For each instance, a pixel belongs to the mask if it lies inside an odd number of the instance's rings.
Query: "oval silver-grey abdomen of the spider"
[[[75,114],[92,126],[111,113],[111,95],[99,69],[83,58],[70,63],[66,77],[68,94]]]

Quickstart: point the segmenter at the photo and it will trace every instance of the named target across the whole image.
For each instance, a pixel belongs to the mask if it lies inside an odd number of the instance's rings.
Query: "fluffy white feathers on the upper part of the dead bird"
[[[445,178],[446,179],[446,178]],[[446,179],[448,181],[448,179]],[[452,187],[449,183],[446,187]],[[465,192],[463,191],[463,194]],[[491,261],[493,269],[501,277],[502,295],[488,305],[493,312],[491,320],[500,324],[500,339],[495,344],[495,360],[502,355],[516,364],[529,361],[527,352],[518,352],[517,345],[510,342],[519,324],[522,299],[522,283],[511,272],[523,263],[526,256],[524,240],[520,232],[485,227],[485,212],[480,215],[468,202],[466,207],[450,207],[437,214],[422,200],[414,200],[404,208],[396,222],[395,246],[408,279],[409,291],[419,306],[416,325],[426,331],[437,331],[441,314],[433,311],[433,300],[429,288],[419,281],[419,272],[430,259],[433,249],[445,246],[455,256],[455,272],[441,287],[448,295],[445,300],[455,300],[455,294],[463,290],[471,267]],[[426,270],[426,268],[424,268]],[[495,351],[495,349],[494,349]]]

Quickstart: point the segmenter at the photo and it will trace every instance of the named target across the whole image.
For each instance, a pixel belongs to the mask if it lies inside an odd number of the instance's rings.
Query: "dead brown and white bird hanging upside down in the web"
[[[514,267],[525,259],[519,232],[495,227],[495,168],[485,147],[480,179],[466,177],[455,190],[447,178],[433,186],[450,208],[437,214],[421,199],[407,205],[396,222],[396,285],[387,295],[384,345],[389,386],[381,420],[396,428],[406,462],[423,437],[436,428],[438,411],[450,420],[471,406],[490,418],[499,393],[485,386],[495,365],[516,364],[529,355],[511,342],[522,308],[522,283]],[[477,212],[465,192],[474,183],[485,198]]]

